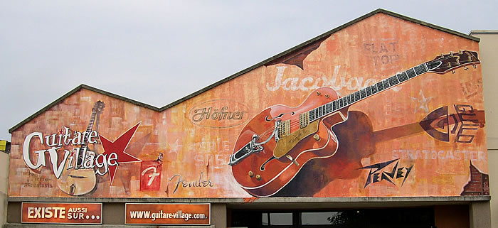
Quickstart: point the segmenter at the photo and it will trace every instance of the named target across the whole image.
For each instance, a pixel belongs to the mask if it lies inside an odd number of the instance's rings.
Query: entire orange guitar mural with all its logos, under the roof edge
[[[82,87],[13,129],[9,196],[489,195],[478,52],[376,13],[167,109]]]

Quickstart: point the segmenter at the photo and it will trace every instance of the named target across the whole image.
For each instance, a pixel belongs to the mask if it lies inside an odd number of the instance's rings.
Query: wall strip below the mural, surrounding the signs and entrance
[[[382,198],[317,198],[268,197],[254,202],[244,199],[95,199],[95,198],[14,198],[9,197],[7,222],[4,227],[75,227],[75,225],[21,224],[21,202],[102,202],[102,227],[126,227],[126,202],[210,202],[211,226],[226,228],[228,213],[233,209],[247,210],[327,210],[337,208],[427,207],[432,206],[438,228],[491,228],[489,196],[466,197],[382,197]],[[158,227],[136,226],[133,227]],[[160,227],[160,226],[159,226]],[[164,226],[166,227],[166,226]],[[201,226],[196,226],[201,227]]]

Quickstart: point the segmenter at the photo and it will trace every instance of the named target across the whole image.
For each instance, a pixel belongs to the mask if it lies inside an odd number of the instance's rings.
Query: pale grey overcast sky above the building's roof
[[[469,33],[498,1],[0,1],[0,139],[80,84],[162,107],[382,8]]]

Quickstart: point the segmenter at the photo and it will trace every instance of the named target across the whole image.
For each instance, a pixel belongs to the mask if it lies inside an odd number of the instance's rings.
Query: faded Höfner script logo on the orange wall
[[[213,99],[192,107],[192,124],[210,128],[228,128],[243,124],[249,118],[248,107],[229,99]]]

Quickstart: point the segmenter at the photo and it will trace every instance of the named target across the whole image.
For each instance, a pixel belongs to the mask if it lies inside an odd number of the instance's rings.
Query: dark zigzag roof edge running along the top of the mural
[[[369,18],[369,17],[371,17],[371,16],[373,16],[373,15],[375,15],[377,13],[385,13],[385,14],[387,14],[389,16],[393,16],[393,17],[396,17],[396,18],[401,18],[401,19],[403,19],[405,21],[410,21],[410,22],[413,22],[413,23],[418,23],[421,26],[427,26],[429,28],[434,28],[434,29],[437,29],[439,31],[443,31],[445,33],[451,33],[451,34],[453,34],[455,36],[460,36],[462,38],[467,38],[467,39],[474,40],[474,41],[477,41],[477,42],[480,41],[480,38],[477,38],[477,37],[474,37],[474,36],[470,36],[470,35],[467,35],[467,34],[464,34],[464,33],[460,33],[460,32],[457,32],[457,31],[453,31],[453,30],[450,30],[450,29],[447,29],[447,28],[443,28],[441,26],[436,26],[436,25],[433,25],[432,23],[427,23],[425,21],[420,21],[420,20],[417,20],[417,19],[414,19],[414,18],[410,18],[408,16],[403,16],[401,14],[393,13],[393,12],[387,11],[385,9],[376,9],[375,11],[371,11],[370,13],[366,13],[364,16],[360,16],[359,18],[356,18],[353,21],[349,21],[348,23],[345,23],[345,24],[343,24],[343,25],[341,25],[341,26],[339,26],[337,28],[334,28],[331,31],[328,31],[327,33],[323,33],[322,35],[319,35],[319,36],[317,36],[315,38],[312,38],[311,40],[307,40],[304,43],[301,43],[300,45],[295,46],[294,48],[290,48],[288,50],[285,50],[284,52],[279,53],[277,55],[274,55],[274,56],[272,56],[270,58],[267,58],[266,60],[263,60],[260,63],[257,63],[257,64],[255,64],[253,66],[248,67],[248,68],[245,68],[244,70],[240,70],[239,72],[236,72],[235,74],[233,74],[231,76],[228,76],[228,77],[224,78],[223,80],[219,80],[218,82],[214,82],[213,84],[208,85],[207,87],[204,87],[203,89],[200,89],[200,90],[198,90],[196,92],[193,92],[193,93],[191,93],[189,95],[186,95],[185,97],[182,97],[181,99],[178,99],[175,102],[171,102],[170,104],[166,104],[164,107],[161,107],[161,108],[154,107],[154,106],[149,105],[149,104],[145,104],[145,103],[142,103],[142,102],[137,102],[137,101],[135,101],[133,99],[122,97],[122,96],[117,95],[117,94],[113,94],[113,93],[110,93],[110,92],[105,92],[102,89],[97,89],[95,87],[90,87],[88,85],[82,84],[82,85],[79,85],[78,87],[75,87],[70,92],[64,94],[59,99],[56,99],[51,104],[48,104],[43,109],[40,109],[35,114],[33,114],[33,115],[29,116],[28,118],[24,119],[23,121],[21,121],[16,126],[13,126],[11,129],[9,129],[9,133],[11,134],[12,131],[15,131],[16,129],[18,129],[19,127],[21,127],[23,124],[26,124],[28,121],[31,121],[32,119],[34,119],[39,114],[41,114],[41,113],[45,112],[46,110],[50,109],[51,107],[53,107],[55,104],[58,104],[59,102],[62,102],[63,99],[69,97],[70,95],[74,94],[75,92],[78,92],[80,89],[88,89],[88,90],[91,90],[93,92],[97,92],[97,93],[100,93],[100,94],[105,94],[105,95],[107,95],[109,97],[114,97],[116,99],[121,99],[124,102],[129,102],[129,103],[132,103],[132,104],[137,104],[138,106],[145,107],[147,109],[152,109],[152,110],[154,110],[156,112],[162,112],[162,111],[164,111],[166,109],[174,107],[176,104],[180,104],[181,102],[186,101],[187,99],[191,99],[192,97],[196,97],[198,94],[206,92],[209,89],[213,89],[214,87],[217,87],[218,85],[221,85],[221,84],[223,84],[225,82],[233,80],[235,77],[239,77],[240,75],[244,75],[245,73],[250,72],[251,70],[254,70],[254,69],[258,68],[258,67],[264,66],[267,63],[272,62],[273,60],[276,60],[278,58],[282,58],[285,55],[292,54],[296,50],[300,50],[302,48],[306,48],[307,45],[311,45],[311,44],[313,44],[314,42],[316,42],[318,40],[322,40],[322,39],[326,38],[327,36],[332,35],[332,33],[337,33],[337,31],[340,31],[340,30],[342,30],[344,28],[347,28],[347,27],[349,27],[349,26],[351,26],[351,25],[353,25],[353,24],[355,24],[355,23],[357,23],[359,21],[363,21],[365,18]]]

